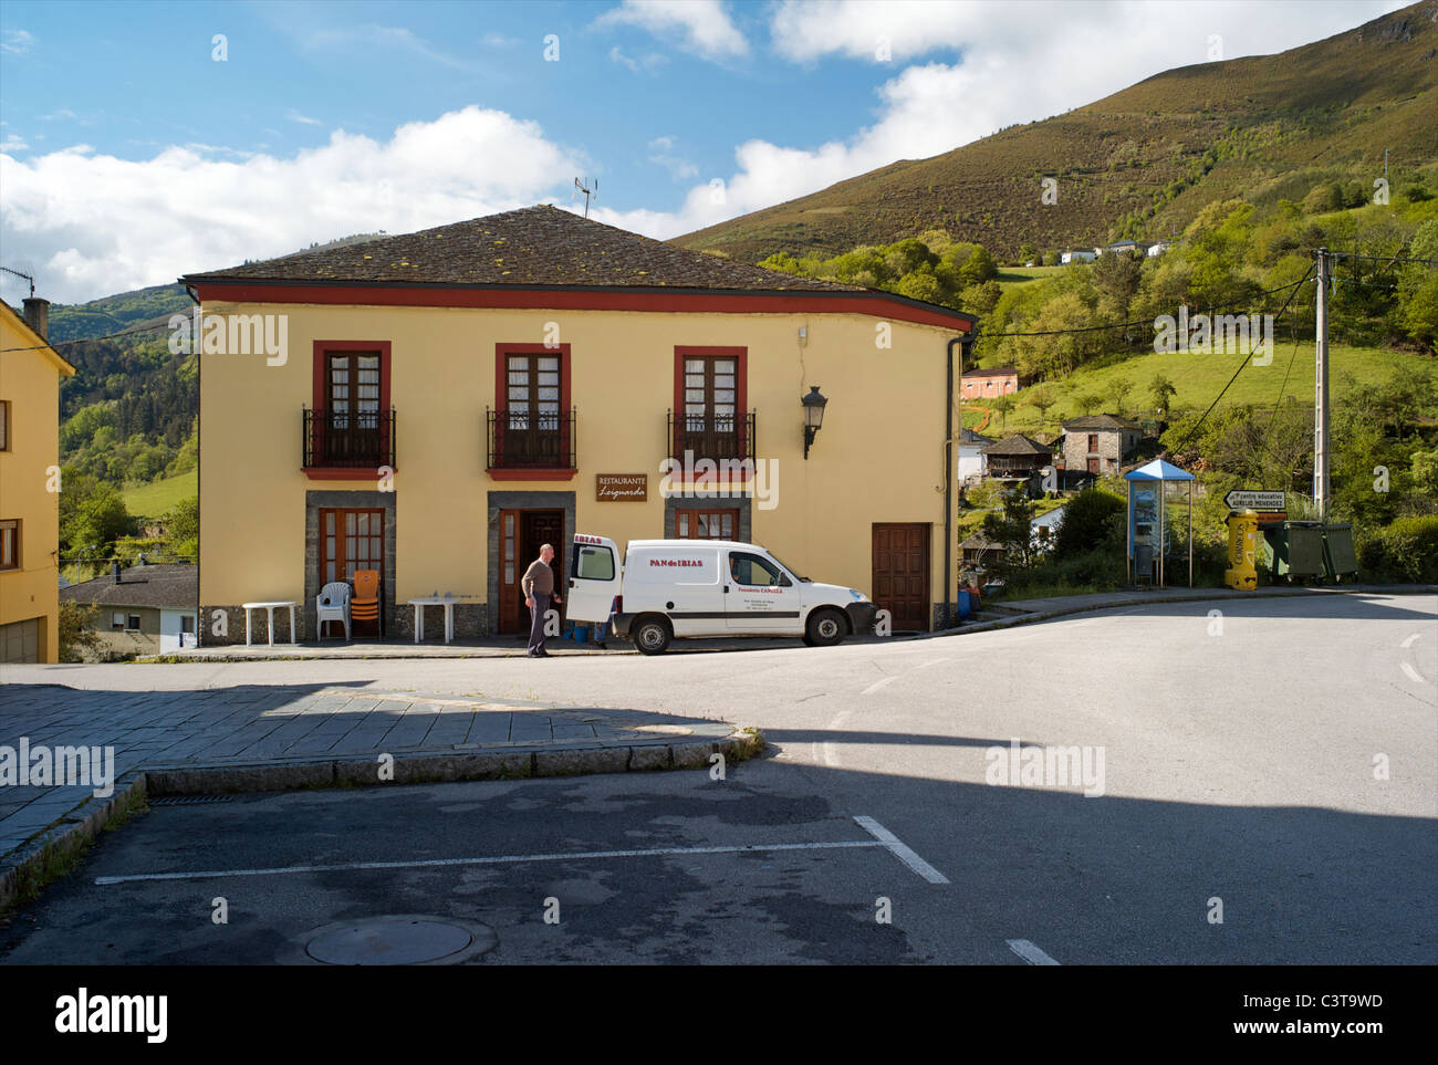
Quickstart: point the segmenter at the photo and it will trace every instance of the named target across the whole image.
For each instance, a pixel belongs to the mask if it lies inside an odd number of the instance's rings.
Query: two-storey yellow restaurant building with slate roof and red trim
[[[952,601],[972,316],[554,207],[183,280],[201,644],[243,640],[259,601],[299,602],[313,638],[357,569],[387,638],[436,592],[470,596],[460,637],[528,632],[519,576],[545,542],[562,573],[575,532],[761,543],[896,630]]]

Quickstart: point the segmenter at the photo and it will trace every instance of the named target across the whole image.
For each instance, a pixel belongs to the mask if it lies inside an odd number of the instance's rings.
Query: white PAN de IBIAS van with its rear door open
[[[764,548],[732,540],[574,538],[569,621],[604,624],[643,654],[684,637],[802,637],[831,647],[874,627],[877,608],[853,588],[814,584]]]

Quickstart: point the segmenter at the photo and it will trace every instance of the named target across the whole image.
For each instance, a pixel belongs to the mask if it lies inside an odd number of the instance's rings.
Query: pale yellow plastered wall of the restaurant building
[[[945,344],[953,331],[894,322],[876,348],[864,315],[545,312],[207,305],[207,313],[289,315],[285,365],[201,355],[200,602],[301,599],[305,492],[374,490],[301,471],[301,405],[324,341],[390,341],[397,417],[397,572],[401,604],[433,589],[487,596],[486,494],[574,492],[578,532],[663,536],[659,492],[674,345],[746,346],[758,456],[778,463],[778,506],[754,504],[754,539],[815,581],[870,591],[873,522],[933,523],[932,599],[943,599]],[[485,473],[485,408],[496,342],[541,344],[558,322],[578,408],[574,480],[496,481]],[[800,328],[808,329],[805,345]],[[800,397],[828,397],[802,454]],[[958,418],[955,418],[958,428]],[[647,473],[647,503],[597,503],[597,473]],[[716,503],[718,506],[719,503]],[[574,533],[575,530],[567,530]],[[200,619],[201,631],[210,621]]]

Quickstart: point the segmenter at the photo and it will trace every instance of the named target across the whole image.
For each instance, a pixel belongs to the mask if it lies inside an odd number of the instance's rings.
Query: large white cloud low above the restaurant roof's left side
[[[535,122],[469,106],[384,142],[341,131],[289,158],[213,158],[204,145],[131,161],[88,145],[0,154],[9,259],[42,295],[95,299],[286,254],[348,233],[406,233],[549,198],[588,164]]]

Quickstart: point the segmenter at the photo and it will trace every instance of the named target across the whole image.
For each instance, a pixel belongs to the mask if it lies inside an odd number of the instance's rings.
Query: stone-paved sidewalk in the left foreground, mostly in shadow
[[[184,668],[184,667],[177,667]],[[306,766],[381,753],[580,752],[720,740],[725,721],[489,697],[377,691],[364,684],[237,686],[193,691],[86,691],[0,686],[0,772],[20,742],[114,747],[114,779],[138,770]],[[653,763],[653,757],[646,759]],[[623,766],[621,766],[623,767]],[[562,770],[561,770],[562,772]],[[526,775],[526,773],[521,773]],[[0,778],[3,779],[3,778]],[[92,779],[93,782],[93,779]],[[0,786],[0,867],[88,803],[92,786]]]

